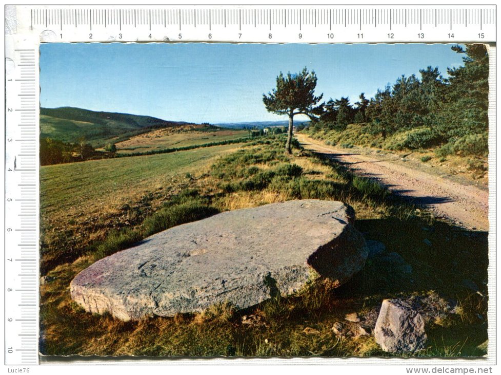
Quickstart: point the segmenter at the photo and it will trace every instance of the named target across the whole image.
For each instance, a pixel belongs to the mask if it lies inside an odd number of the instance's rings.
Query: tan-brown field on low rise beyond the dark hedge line
[[[144,153],[166,148],[202,145],[246,138],[247,130],[228,130],[203,125],[181,125],[153,130],[115,143],[118,154]]]

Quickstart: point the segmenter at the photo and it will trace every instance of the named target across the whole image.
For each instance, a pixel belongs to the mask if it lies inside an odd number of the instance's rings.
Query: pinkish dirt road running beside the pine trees
[[[361,155],[346,149],[327,146],[304,134],[296,136],[306,149],[328,155],[358,175],[377,179],[393,192],[409,197],[413,203],[433,210],[437,217],[449,219],[468,229],[489,230],[486,191],[399,165],[392,162],[388,156],[377,158],[373,155]]]

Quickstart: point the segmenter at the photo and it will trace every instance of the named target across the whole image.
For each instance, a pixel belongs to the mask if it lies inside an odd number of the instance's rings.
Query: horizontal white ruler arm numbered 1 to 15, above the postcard
[[[43,42],[494,42],[495,6],[18,7]]]

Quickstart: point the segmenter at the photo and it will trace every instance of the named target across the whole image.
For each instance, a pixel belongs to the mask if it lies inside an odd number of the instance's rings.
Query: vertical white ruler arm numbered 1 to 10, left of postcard
[[[5,92],[5,363],[36,364],[38,48],[6,51]]]

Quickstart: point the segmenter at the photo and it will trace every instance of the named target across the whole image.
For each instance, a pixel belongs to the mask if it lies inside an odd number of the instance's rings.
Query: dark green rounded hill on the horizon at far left
[[[78,142],[85,138],[94,147],[119,142],[152,129],[186,124],[189,123],[75,107],[40,108],[41,138],[63,142]]]

